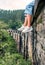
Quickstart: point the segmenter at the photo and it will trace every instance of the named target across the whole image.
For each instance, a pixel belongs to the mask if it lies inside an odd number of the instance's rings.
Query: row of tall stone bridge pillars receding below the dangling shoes
[[[27,60],[32,59],[32,36],[33,31],[29,33],[21,33],[16,30],[9,30],[9,34],[17,43],[17,50]]]

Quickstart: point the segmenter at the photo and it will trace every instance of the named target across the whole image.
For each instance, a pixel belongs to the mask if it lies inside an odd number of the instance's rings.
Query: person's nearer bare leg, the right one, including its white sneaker
[[[31,20],[32,20],[32,15],[27,14],[27,25],[24,28],[24,30],[22,31],[23,33],[26,33],[26,32],[33,30],[32,26],[31,26]]]

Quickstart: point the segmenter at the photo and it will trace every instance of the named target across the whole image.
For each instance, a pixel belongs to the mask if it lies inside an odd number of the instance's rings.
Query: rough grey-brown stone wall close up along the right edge
[[[34,65],[45,65],[45,7],[38,16],[35,25],[33,48]]]

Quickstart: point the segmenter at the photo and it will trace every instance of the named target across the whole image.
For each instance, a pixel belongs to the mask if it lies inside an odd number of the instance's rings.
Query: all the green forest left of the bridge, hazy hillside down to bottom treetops
[[[0,65],[32,65],[31,61],[23,59],[17,52],[15,40],[6,31],[17,29],[24,21],[23,10],[0,10]]]

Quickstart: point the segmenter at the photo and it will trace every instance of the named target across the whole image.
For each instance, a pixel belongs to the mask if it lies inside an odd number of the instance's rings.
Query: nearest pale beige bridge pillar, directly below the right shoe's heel
[[[28,58],[33,62],[32,50],[33,50],[33,31],[28,33]]]

